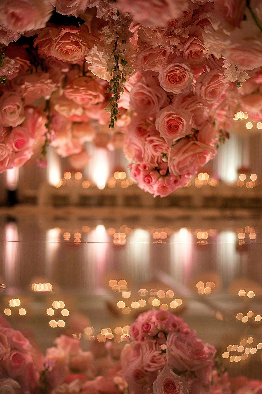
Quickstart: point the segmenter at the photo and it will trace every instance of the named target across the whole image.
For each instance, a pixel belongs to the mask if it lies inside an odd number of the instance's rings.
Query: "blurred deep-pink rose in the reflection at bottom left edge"
[[[30,363],[33,363],[32,357],[18,350],[11,350],[11,352],[2,359],[2,366],[7,370],[9,377],[23,376]]]

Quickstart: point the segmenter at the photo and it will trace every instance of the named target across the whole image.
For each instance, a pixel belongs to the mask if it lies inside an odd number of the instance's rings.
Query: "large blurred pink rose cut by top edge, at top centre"
[[[170,19],[178,19],[189,6],[184,0],[119,0],[117,7],[123,12],[130,12],[135,23],[154,28],[165,27]]]

